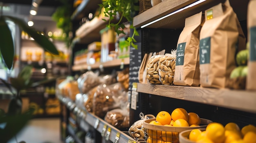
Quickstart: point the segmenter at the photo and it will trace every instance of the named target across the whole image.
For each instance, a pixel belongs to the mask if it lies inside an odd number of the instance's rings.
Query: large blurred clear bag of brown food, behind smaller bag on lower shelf
[[[94,92],[92,112],[96,116],[104,118],[108,111],[119,108],[119,96],[123,94],[123,91],[120,83],[99,85]]]

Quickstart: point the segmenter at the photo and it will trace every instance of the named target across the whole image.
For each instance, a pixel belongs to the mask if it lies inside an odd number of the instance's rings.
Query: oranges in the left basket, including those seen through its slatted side
[[[155,121],[149,124],[164,125],[169,127],[195,127],[199,126],[201,122],[198,114],[194,112],[187,112],[183,108],[176,108],[170,114],[166,111],[160,111]],[[147,143],[178,143],[178,132],[168,132],[160,130],[148,130]]]

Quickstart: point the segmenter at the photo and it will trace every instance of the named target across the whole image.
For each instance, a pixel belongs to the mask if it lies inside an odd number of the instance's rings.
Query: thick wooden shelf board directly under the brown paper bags
[[[256,113],[256,91],[138,83],[137,92]]]

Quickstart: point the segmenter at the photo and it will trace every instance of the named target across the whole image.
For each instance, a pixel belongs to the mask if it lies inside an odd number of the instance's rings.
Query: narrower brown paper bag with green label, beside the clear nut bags
[[[202,12],[185,20],[185,27],[177,43],[177,61],[173,84],[199,86],[199,36],[204,23]]]

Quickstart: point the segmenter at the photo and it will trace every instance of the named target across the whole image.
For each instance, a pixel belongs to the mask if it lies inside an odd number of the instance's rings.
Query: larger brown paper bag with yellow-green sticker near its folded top
[[[244,34],[238,22],[229,0],[205,11],[199,43],[202,87],[229,86],[230,73],[236,68],[236,51],[245,46]]]

